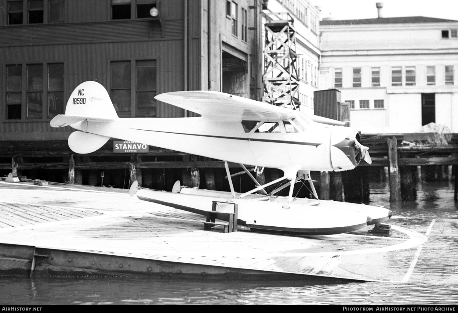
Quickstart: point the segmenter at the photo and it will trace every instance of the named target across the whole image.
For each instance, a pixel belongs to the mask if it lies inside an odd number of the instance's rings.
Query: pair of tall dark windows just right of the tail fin
[[[135,71],[133,74],[132,65]],[[134,116],[155,117],[156,61],[112,61],[110,70],[110,97],[118,115],[131,116],[131,103],[135,101]],[[135,80],[131,79],[132,75]],[[135,99],[132,99],[134,95]]]

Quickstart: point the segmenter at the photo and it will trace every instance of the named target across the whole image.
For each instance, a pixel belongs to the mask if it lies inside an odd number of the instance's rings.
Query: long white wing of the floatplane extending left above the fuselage
[[[294,119],[300,112],[268,103],[214,91],[166,92],[155,97],[159,101],[225,120]]]

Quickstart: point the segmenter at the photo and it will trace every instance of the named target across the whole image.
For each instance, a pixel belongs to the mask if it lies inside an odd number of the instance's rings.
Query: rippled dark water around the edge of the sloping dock
[[[371,205],[399,216],[390,223],[425,232],[406,283],[303,281],[167,281],[146,278],[0,278],[0,304],[458,304],[458,205],[453,185],[423,183],[416,201],[389,203],[371,190]]]

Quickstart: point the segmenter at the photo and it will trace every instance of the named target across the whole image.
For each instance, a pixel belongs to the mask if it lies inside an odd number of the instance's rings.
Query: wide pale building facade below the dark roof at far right
[[[381,9],[381,7],[379,7]],[[338,88],[351,126],[458,131],[458,21],[423,16],[320,22],[320,89]]]

